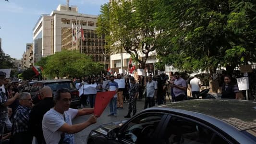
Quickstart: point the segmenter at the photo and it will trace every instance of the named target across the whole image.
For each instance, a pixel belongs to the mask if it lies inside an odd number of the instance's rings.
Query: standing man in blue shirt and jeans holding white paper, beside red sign
[[[110,76],[110,83],[109,83],[109,91],[118,91],[118,84],[114,81],[115,76]],[[108,117],[117,117],[116,116],[116,109],[117,109],[117,94],[110,100],[110,114]]]

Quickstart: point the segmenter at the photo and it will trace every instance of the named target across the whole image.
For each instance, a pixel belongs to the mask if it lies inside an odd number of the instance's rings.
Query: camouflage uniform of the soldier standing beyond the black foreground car
[[[138,84],[131,84],[130,86],[130,90],[129,90],[129,114],[132,113],[133,111],[133,115],[136,113],[136,100],[137,97],[135,97],[135,94],[139,92],[139,86]]]

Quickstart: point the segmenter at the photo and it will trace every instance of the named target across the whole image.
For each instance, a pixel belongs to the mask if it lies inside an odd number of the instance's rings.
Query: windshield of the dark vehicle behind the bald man
[[[55,82],[55,83],[47,83],[45,86],[49,86],[53,92],[56,92],[60,88],[67,88],[69,90],[75,89],[74,84],[72,82]]]

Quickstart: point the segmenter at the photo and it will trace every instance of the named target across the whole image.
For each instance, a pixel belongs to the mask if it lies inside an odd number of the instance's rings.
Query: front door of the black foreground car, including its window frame
[[[160,112],[147,112],[129,120],[122,126],[118,141],[121,144],[156,144],[158,132],[167,115]]]

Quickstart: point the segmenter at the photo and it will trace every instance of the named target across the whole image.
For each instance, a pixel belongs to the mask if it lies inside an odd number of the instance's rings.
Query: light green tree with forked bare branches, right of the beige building
[[[162,29],[156,29],[156,0],[113,0],[101,6],[98,35],[105,35],[107,48],[124,49],[145,68],[149,53],[158,47]],[[139,53],[144,56],[140,58]]]

